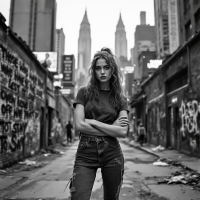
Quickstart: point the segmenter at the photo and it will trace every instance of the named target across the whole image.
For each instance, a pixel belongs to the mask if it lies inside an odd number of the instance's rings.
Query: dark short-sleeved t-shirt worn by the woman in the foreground
[[[85,96],[85,90],[85,87],[79,89],[73,106],[76,108],[76,104],[82,104],[85,108],[86,119],[95,119],[106,124],[113,124],[121,110],[128,111],[127,100],[118,110],[111,106],[109,103],[110,91],[107,90],[100,90],[98,105],[94,106],[94,104]]]

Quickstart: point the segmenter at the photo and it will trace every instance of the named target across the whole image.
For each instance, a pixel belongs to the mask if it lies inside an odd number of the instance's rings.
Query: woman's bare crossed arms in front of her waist
[[[84,106],[76,105],[75,109],[76,130],[94,136],[113,136],[125,138],[128,130],[128,114],[126,110],[119,113],[117,120],[113,124],[105,124],[95,119],[85,119]]]

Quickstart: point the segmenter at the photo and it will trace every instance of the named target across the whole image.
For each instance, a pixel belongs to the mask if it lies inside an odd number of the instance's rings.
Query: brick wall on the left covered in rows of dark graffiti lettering
[[[0,168],[41,146],[45,70],[0,22]]]

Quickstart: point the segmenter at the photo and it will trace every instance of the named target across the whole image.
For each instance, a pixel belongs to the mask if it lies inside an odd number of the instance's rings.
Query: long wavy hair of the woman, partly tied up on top
[[[106,63],[111,67],[111,78],[110,78],[110,93],[109,102],[115,108],[120,108],[125,98],[122,93],[122,75],[120,73],[120,66],[118,58],[112,53],[109,48],[102,48],[101,51],[96,52],[91,62],[89,69],[90,81],[87,85],[86,95],[94,105],[98,104],[99,100],[99,80],[96,78],[95,66],[98,59],[103,58]]]

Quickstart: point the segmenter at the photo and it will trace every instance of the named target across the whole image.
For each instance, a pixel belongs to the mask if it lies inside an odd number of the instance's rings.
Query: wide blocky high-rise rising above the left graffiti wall
[[[56,0],[11,0],[10,27],[32,51],[55,51]]]

